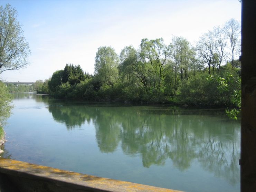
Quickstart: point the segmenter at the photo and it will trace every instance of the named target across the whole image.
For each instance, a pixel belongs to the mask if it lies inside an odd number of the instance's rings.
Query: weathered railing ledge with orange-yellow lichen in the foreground
[[[178,192],[3,158],[0,158],[0,175],[8,177],[20,191]]]

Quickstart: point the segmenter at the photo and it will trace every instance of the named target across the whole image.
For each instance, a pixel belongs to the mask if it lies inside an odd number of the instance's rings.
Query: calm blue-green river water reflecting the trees
[[[183,191],[240,191],[240,122],[223,111],[14,94],[2,156]]]

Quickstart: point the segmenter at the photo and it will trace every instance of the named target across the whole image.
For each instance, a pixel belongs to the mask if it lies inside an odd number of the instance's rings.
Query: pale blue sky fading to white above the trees
[[[0,0],[18,12],[31,55],[25,69],[4,71],[8,82],[45,80],[66,64],[94,73],[101,46],[119,55],[125,46],[139,48],[141,39],[182,36],[195,45],[214,26],[231,18],[241,21],[238,0]]]

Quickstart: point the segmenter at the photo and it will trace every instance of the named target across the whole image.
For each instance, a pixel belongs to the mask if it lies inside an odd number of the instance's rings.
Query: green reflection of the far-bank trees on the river
[[[240,125],[217,110],[178,107],[51,103],[49,112],[67,129],[92,122],[101,152],[140,155],[144,167],[164,165],[169,158],[179,170],[193,161],[206,171],[239,181]]]

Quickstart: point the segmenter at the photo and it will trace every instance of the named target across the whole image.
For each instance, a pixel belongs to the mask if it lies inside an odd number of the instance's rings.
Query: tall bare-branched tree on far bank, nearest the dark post
[[[239,35],[241,32],[241,24],[238,21],[236,21],[234,18],[230,19],[226,22],[224,30],[229,39],[229,49],[232,55],[231,65],[232,67],[234,67],[234,56],[236,52],[240,51]]]

